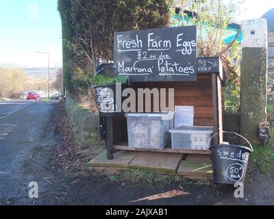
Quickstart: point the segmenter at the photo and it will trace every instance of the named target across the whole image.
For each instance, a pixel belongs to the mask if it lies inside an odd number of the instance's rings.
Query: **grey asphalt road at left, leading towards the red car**
[[[9,114],[27,102],[0,104],[1,114]],[[0,120],[0,205],[42,204],[29,198],[32,181],[38,183],[40,196],[49,192],[47,162],[51,146],[59,140],[53,112],[53,103],[30,103]]]

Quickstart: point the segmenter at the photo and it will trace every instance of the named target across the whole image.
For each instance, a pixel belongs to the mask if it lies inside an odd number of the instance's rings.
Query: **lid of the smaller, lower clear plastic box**
[[[182,126],[177,129],[169,130],[170,133],[184,133],[184,134],[195,134],[195,133],[204,133],[204,134],[212,134],[213,127],[209,126]]]

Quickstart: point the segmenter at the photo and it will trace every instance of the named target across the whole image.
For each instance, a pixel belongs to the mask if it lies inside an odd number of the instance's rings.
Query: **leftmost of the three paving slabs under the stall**
[[[127,168],[128,164],[136,157],[138,153],[134,151],[120,151],[114,153],[113,159],[107,158],[107,152],[104,151],[95,159],[87,164],[88,167],[110,167],[110,168]]]

